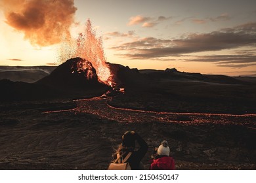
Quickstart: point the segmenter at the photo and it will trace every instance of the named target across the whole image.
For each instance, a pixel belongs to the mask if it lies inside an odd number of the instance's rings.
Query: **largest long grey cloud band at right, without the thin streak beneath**
[[[205,51],[218,51],[241,46],[255,46],[256,23],[248,23],[211,33],[191,33],[183,39],[139,38],[113,47],[128,52],[131,59],[148,59]]]

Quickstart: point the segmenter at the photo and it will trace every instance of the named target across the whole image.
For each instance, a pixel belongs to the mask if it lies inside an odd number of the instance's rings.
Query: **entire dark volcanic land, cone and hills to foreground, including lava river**
[[[77,61],[31,84],[0,80],[0,169],[107,169],[127,130],[148,143],[146,169],[163,139],[176,169],[256,169],[255,78],[110,64],[123,94],[72,74]]]

